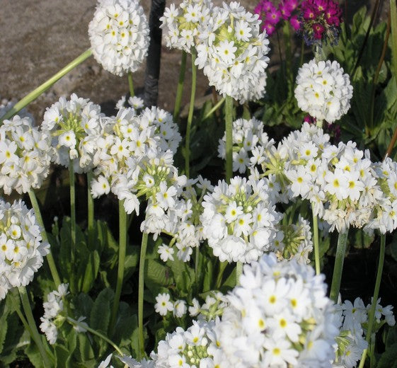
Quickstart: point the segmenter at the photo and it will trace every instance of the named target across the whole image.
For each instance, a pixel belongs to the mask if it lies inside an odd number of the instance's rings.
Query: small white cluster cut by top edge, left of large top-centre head
[[[176,8],[171,4],[160,18],[167,47],[190,53],[202,26],[211,17],[211,0],[183,0]]]

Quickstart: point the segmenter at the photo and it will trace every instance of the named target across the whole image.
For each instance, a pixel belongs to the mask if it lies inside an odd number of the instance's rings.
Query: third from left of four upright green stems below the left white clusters
[[[113,302],[112,319],[110,326],[115,325],[117,311],[120,304],[122,280],[124,278],[125,251],[127,248],[127,214],[124,209],[124,200],[119,200],[119,262],[117,268],[117,284],[115,300]]]

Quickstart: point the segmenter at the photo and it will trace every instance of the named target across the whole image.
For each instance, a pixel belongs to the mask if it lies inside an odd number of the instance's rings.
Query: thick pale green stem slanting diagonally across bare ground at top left
[[[15,105],[13,105],[13,108],[11,108],[11,110],[8,110],[4,116],[0,117],[0,123],[3,122],[3,120],[10,119],[11,117],[13,117],[13,115],[18,113],[18,111],[22,110],[26,105],[28,105],[33,100],[38,98],[42,93],[47,91],[47,89],[50,88],[56,81],[61,79],[62,76],[69,73],[69,71],[77,67],[82,62],[84,62],[84,60],[90,57],[91,54],[92,54],[91,49],[84,51],[81,55],[76,57],[76,59],[74,59],[72,62],[67,64],[66,67],[62,68],[56,74],[54,74],[50,79],[45,81],[41,86],[38,86],[38,88],[28,93],[28,95],[26,95],[24,98],[19,100]]]

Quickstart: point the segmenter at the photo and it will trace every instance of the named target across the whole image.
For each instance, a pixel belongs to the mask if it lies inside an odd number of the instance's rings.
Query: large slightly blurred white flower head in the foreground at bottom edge
[[[222,367],[331,367],[338,320],[323,275],[274,254],[244,265],[215,326]]]

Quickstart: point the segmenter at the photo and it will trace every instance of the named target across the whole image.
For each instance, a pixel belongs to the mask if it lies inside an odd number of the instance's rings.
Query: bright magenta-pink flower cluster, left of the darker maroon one
[[[289,21],[294,30],[299,30],[298,6],[299,0],[282,0],[278,6],[275,6],[270,0],[262,0],[255,7],[255,13],[262,20],[262,30],[266,30],[267,35],[272,35],[277,24],[282,20]]]

